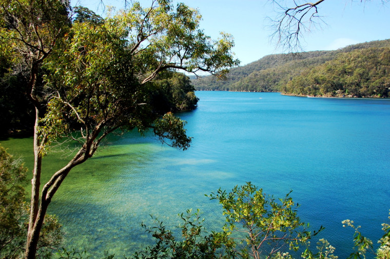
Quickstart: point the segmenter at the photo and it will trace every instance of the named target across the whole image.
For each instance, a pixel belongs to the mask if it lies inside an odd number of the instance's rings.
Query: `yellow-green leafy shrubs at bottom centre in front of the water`
[[[206,195],[207,196],[207,195]],[[156,220],[157,226],[143,227],[155,238],[155,245],[136,252],[130,258],[288,258],[288,250],[298,250],[308,244],[311,233],[297,216],[289,194],[276,200],[267,196],[251,183],[236,186],[227,193],[219,189],[209,195],[222,204],[228,226],[220,232],[208,233],[202,226],[199,211],[180,214],[182,223],[178,229],[181,237]],[[306,225],[307,226],[307,225]],[[321,227],[322,229],[322,227]],[[320,230],[321,230],[320,229]],[[233,233],[236,231],[236,233]],[[314,235],[318,232],[314,231]],[[245,236],[244,236],[245,235]],[[286,245],[286,246],[285,246]],[[326,247],[326,248],[325,248]],[[329,258],[329,244],[322,240],[318,254],[307,248],[302,256],[307,259]]]

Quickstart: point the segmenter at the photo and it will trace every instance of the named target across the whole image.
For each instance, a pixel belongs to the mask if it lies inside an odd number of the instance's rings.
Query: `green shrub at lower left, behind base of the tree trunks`
[[[24,185],[27,168],[0,146],[0,258],[19,258],[27,237],[29,206]],[[37,257],[51,257],[62,240],[61,225],[47,215],[37,246]]]

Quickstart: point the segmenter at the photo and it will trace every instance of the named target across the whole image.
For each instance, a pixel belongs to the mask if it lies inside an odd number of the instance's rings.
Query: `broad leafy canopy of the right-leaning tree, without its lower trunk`
[[[81,135],[86,136],[88,130],[109,133],[116,128],[138,128],[142,132],[161,125],[154,123],[160,114],[150,102],[156,88],[151,81],[160,72],[218,73],[236,64],[226,38],[215,42],[215,48],[197,29],[197,11],[182,4],[173,10],[164,1],[150,9],[134,3],[132,9],[108,17],[104,23],[73,24],[64,37],[64,47],[45,63],[50,72],[45,77],[50,101],[41,119],[41,138],[47,139],[46,146],[69,135],[74,126],[81,126]],[[185,78],[173,74],[169,79],[172,98],[180,102],[177,109],[192,108],[197,100],[188,93],[192,89]],[[188,138],[181,140],[188,144]]]

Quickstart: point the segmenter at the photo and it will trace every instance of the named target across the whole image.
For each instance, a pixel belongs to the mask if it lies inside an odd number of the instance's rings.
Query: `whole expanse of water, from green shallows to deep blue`
[[[382,236],[390,209],[390,99],[333,99],[278,93],[197,92],[199,107],[180,113],[193,137],[187,151],[151,135],[112,136],[75,168],[56,193],[50,213],[64,225],[65,246],[129,255],[150,236],[149,214],[167,225],[178,213],[201,209],[206,226],[222,226],[221,207],[204,194],[250,181],[267,194],[290,190],[299,215],[345,258],[352,247],[349,218],[367,237]],[[31,168],[31,139],[3,141]],[[59,167],[45,158],[44,178]],[[375,244],[376,242],[374,242]]]

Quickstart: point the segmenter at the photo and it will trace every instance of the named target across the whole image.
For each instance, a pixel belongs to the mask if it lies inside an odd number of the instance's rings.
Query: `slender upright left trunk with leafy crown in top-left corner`
[[[43,157],[43,143],[40,143],[38,121],[45,112],[45,99],[42,98],[41,85],[37,83],[38,73],[43,61],[69,28],[68,2],[66,0],[2,0],[0,1],[0,28],[0,42],[6,50],[3,52],[10,55],[13,63],[18,65],[13,68],[13,72],[26,71],[27,73],[25,89],[35,109],[34,168],[26,246],[26,254],[29,258],[34,258],[44,222],[43,217],[37,218]],[[36,224],[37,220],[38,224]]]

